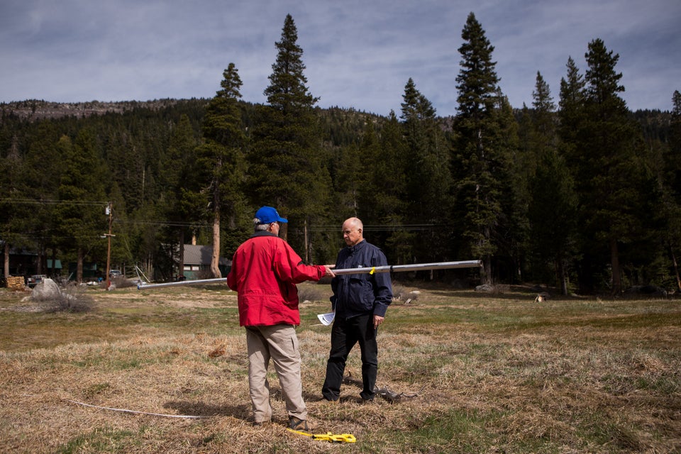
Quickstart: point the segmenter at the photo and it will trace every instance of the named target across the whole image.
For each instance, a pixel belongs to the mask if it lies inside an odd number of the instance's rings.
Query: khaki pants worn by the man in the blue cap
[[[248,345],[248,387],[255,422],[272,420],[270,383],[267,382],[270,358],[279,377],[288,416],[307,419],[307,409],[302,395],[296,329],[292,325],[284,324],[247,326],[246,345]]]

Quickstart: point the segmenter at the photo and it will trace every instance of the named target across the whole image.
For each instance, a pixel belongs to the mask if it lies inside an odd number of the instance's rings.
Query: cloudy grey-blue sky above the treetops
[[[321,107],[399,114],[411,77],[456,114],[458,48],[473,12],[511,105],[541,72],[558,102],[567,58],[586,71],[595,38],[619,54],[630,109],[672,109],[681,91],[678,0],[2,0],[0,102],[210,98],[233,62],[262,103],[290,13]]]

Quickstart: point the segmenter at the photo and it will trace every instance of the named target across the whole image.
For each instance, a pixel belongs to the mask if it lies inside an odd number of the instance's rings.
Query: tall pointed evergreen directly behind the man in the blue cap
[[[327,240],[316,229],[311,234],[309,227],[325,223],[331,178],[313,109],[318,99],[306,87],[303,50],[297,40],[298,31],[289,14],[281,40],[275,44],[277,59],[265,89],[269,104],[259,110],[253,131],[250,199],[255,206],[277,206],[292,228],[282,229],[282,236],[304,251],[301,255],[306,261],[321,261],[327,258],[312,258],[311,250],[325,250]]]

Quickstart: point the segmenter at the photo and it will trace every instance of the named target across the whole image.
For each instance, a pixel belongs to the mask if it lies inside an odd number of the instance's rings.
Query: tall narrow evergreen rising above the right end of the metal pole
[[[455,118],[455,175],[459,231],[467,241],[463,253],[483,261],[482,281],[492,283],[492,256],[497,251],[494,231],[502,216],[499,172],[501,150],[495,148],[499,124],[494,114],[499,77],[492,61],[494,47],[475,14],[468,15],[459,48],[461,70],[456,77],[458,114]]]

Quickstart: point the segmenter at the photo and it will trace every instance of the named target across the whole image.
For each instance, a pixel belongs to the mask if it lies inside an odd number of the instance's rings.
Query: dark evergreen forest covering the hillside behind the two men
[[[570,58],[555,95],[537,72],[532,105],[510,106],[472,14],[462,37],[445,118],[411,79],[399,112],[316,107],[289,18],[267,104],[240,99],[232,64],[213,99],[0,104],[0,240],[104,263],[111,202],[114,267],[170,279],[179,244],[231,257],[271,205],[308,262],[334,262],[358,216],[391,264],[484,263],[419,279],[678,289],[681,95],[629,111],[617,55],[592,40],[586,72]]]

